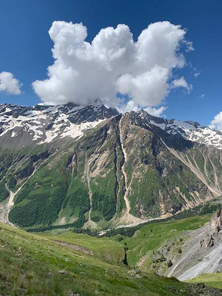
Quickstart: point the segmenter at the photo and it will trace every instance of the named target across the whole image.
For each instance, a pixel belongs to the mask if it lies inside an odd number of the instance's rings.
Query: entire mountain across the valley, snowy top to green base
[[[175,120],[145,111],[122,115],[99,101],[1,105],[0,120],[0,199],[16,191],[13,223],[128,224],[222,194],[222,150],[187,140]]]

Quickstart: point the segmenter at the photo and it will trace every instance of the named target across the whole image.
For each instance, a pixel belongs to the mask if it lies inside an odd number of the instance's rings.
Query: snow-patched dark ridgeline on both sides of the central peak
[[[147,124],[158,126],[169,134],[175,134],[184,137],[186,140],[222,149],[222,133],[218,130],[212,130],[208,126],[201,126],[194,121],[180,121],[178,119],[152,116],[143,109],[135,113],[145,119]],[[67,103],[51,106],[40,103],[33,107],[25,107],[1,104],[0,137],[9,131],[11,131],[11,137],[18,135],[21,137],[21,128],[23,126],[25,132],[30,130],[29,134],[33,141],[37,141],[37,144],[51,142],[58,136],[74,138],[75,136],[81,136],[83,134],[82,130],[92,128],[102,120],[118,114],[120,113],[116,109],[106,108],[99,99],[87,105]],[[79,124],[82,126],[78,126]]]

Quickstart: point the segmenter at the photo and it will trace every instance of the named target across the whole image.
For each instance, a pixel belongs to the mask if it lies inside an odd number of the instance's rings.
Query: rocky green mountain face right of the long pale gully
[[[206,185],[153,132],[133,125],[125,133],[125,170],[133,215],[175,214],[188,203],[195,206],[200,198],[212,196]]]

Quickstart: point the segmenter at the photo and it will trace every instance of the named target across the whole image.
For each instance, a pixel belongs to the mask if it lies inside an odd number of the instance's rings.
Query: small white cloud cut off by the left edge
[[[20,90],[21,86],[22,83],[12,73],[5,71],[0,73],[0,91],[11,95],[20,95],[22,93]]]

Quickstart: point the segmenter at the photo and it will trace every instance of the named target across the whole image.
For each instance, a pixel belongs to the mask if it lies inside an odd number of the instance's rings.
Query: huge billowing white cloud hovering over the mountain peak
[[[100,98],[121,110],[158,106],[171,90],[173,70],[185,66],[183,49],[191,50],[185,33],[181,26],[157,22],[134,42],[129,27],[118,25],[102,29],[89,43],[81,23],[55,21],[49,30],[55,61],[48,78],[33,82],[33,88],[46,104]]]

